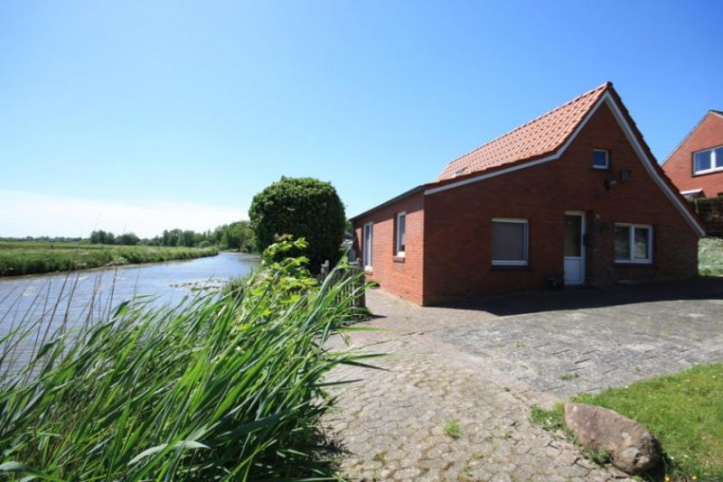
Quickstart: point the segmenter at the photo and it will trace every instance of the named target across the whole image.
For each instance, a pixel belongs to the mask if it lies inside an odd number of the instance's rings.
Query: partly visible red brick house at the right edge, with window
[[[662,169],[687,198],[723,196],[723,112],[703,116]]]

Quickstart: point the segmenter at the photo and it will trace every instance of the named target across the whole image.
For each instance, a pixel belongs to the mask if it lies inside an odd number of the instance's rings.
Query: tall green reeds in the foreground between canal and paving
[[[331,477],[319,422],[324,375],[364,365],[333,352],[358,312],[341,283],[303,260],[271,262],[244,289],[41,336],[30,363],[0,375],[0,471],[46,480]],[[311,281],[310,281],[311,280]],[[362,288],[363,289],[363,288]],[[27,328],[25,328],[27,327]],[[42,327],[0,339],[0,366]]]

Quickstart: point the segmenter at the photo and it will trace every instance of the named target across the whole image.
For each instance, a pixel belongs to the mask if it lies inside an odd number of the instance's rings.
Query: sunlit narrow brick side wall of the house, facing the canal
[[[410,301],[423,302],[422,275],[424,269],[424,193],[418,192],[406,199],[372,212],[364,218],[354,219],[355,248],[363,254],[363,226],[373,223],[372,269],[367,279],[380,287]],[[406,211],[406,251],[396,256],[395,224],[397,213]]]

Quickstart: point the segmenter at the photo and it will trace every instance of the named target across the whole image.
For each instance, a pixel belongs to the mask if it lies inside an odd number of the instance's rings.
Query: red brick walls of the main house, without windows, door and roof
[[[593,169],[595,149],[609,152],[608,170]],[[657,165],[648,169],[666,182]],[[587,285],[697,273],[699,235],[681,211],[687,206],[680,198],[676,205],[670,194],[666,196],[605,103],[559,158],[437,190],[446,185],[450,182],[427,184],[354,219],[360,253],[362,227],[373,223],[369,277],[383,290],[419,304],[435,304],[545,288],[550,277],[563,272],[566,211],[585,213]],[[674,190],[665,185],[669,192]],[[399,211],[407,212],[403,259],[393,253]],[[493,218],[527,220],[527,265],[493,265]],[[652,263],[615,262],[616,223],[652,227]]]

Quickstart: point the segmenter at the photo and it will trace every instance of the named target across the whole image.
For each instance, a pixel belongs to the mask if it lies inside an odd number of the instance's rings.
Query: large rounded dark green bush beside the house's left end
[[[344,206],[330,182],[286,178],[254,196],[249,209],[257,247],[265,249],[277,235],[305,237],[309,269],[318,273],[325,260],[341,255],[346,218]]]

